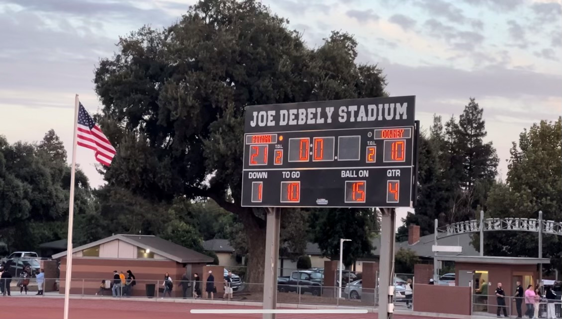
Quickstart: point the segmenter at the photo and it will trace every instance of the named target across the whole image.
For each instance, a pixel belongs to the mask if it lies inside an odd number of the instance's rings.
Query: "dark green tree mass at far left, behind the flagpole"
[[[88,178],[76,169],[74,214],[94,211]],[[0,136],[0,238],[13,250],[33,250],[40,243],[66,238],[70,167],[55,131],[38,145],[8,144]]]

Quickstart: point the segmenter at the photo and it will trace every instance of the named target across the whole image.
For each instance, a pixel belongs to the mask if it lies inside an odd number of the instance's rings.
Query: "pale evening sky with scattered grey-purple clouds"
[[[0,135],[34,142],[53,128],[71,154],[75,94],[90,113],[101,108],[93,90],[99,59],[113,56],[119,36],[145,24],[169,26],[194,3],[0,0]],[[263,3],[289,19],[310,47],[330,30],[354,34],[357,62],[383,68],[391,96],[416,95],[422,128],[433,114],[444,122],[458,116],[476,98],[501,178],[519,133],[562,114],[562,0]],[[76,156],[92,186],[103,184],[92,151]]]

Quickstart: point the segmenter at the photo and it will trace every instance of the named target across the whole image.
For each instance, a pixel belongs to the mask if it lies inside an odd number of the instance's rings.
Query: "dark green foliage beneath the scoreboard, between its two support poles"
[[[343,264],[349,266],[358,257],[373,250],[371,239],[379,230],[379,215],[372,209],[321,209],[312,212],[312,237],[324,256],[339,259],[339,239],[351,239],[343,244]]]

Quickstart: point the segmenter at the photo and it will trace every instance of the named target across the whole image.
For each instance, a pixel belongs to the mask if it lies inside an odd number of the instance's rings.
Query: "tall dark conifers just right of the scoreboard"
[[[434,116],[429,135],[420,137],[418,202],[415,215],[408,214],[398,235],[407,226],[420,226],[420,234],[433,233],[439,225],[474,219],[486,208],[488,191],[495,183],[498,158],[486,137],[483,109],[470,98],[459,121],[451,117],[443,126]]]

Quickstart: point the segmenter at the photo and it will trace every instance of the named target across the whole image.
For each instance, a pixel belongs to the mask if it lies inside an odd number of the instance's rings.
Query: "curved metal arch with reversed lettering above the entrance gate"
[[[482,220],[461,221],[437,228],[437,238],[451,237],[466,233],[479,233],[499,230],[516,230],[562,236],[562,223],[553,220],[532,218],[487,218]]]

